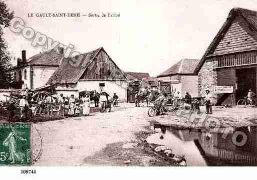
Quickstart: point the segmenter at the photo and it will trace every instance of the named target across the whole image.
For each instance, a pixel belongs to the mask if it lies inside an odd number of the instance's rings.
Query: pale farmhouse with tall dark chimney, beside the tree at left
[[[22,59],[18,58],[17,66],[10,70],[14,77],[12,88],[36,89],[46,85],[59,67],[63,52],[63,48],[58,48],[26,59],[26,51],[22,51]]]

